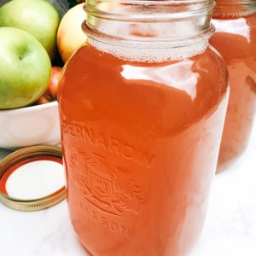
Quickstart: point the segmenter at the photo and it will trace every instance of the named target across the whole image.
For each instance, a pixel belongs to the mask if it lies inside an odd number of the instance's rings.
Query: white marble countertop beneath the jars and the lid
[[[6,154],[0,149],[0,158]],[[0,204],[1,256],[86,255],[73,232],[67,202],[41,212]],[[213,182],[207,221],[189,256],[256,255],[256,126],[247,151]],[[172,255],[170,255],[172,256]]]

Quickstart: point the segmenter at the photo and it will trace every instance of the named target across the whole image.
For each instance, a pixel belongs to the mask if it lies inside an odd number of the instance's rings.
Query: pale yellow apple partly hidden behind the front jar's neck
[[[61,20],[57,32],[57,46],[61,59],[64,62],[86,40],[86,35],[81,28],[82,23],[86,19],[86,13],[83,7],[84,3],[74,6]]]

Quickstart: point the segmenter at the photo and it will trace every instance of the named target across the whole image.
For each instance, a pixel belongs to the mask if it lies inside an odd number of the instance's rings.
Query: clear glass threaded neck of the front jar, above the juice
[[[102,49],[119,45],[143,49],[143,55],[145,48],[180,55],[182,48],[190,55],[207,48],[213,7],[213,0],[87,0],[83,29],[91,44],[105,44]]]

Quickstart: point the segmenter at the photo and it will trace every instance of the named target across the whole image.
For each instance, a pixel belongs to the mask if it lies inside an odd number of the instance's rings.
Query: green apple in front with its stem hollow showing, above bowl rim
[[[47,89],[51,63],[31,34],[0,27],[0,109],[20,108],[38,100]]]

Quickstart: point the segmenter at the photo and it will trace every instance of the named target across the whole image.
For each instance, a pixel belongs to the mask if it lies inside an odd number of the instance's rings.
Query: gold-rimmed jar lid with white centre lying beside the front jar
[[[37,176],[38,170],[41,172]],[[49,183],[52,183],[51,186],[48,186]],[[46,188],[43,195],[42,188]],[[38,191],[30,198],[32,189]],[[65,198],[61,148],[48,145],[21,148],[0,162],[0,201],[5,206],[32,212],[55,206]]]

